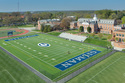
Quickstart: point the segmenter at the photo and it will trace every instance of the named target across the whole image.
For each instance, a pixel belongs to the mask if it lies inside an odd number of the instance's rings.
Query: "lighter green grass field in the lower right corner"
[[[67,83],[125,83],[125,53],[116,52]]]

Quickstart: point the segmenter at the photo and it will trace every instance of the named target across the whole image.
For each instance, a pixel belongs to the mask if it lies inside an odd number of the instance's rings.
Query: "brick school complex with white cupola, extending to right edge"
[[[93,18],[79,18],[70,23],[71,29],[78,29],[80,26],[83,26],[84,32],[87,32],[87,27],[91,27],[91,33],[112,34],[114,46],[125,48],[125,25],[117,25],[116,20],[98,19],[94,15]]]

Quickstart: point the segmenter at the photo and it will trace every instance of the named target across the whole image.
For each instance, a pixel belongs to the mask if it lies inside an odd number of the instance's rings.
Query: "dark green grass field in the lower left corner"
[[[0,83],[45,83],[0,49]]]

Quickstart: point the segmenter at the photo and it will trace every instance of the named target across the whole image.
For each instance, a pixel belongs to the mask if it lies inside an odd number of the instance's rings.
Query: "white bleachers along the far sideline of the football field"
[[[61,33],[59,37],[80,42],[84,42],[87,38],[86,36],[73,35],[70,33]]]

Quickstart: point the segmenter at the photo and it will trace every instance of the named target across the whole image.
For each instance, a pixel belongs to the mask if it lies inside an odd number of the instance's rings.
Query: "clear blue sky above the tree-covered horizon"
[[[125,0],[19,0],[19,11],[125,10]],[[18,0],[0,0],[0,12],[17,12]]]

